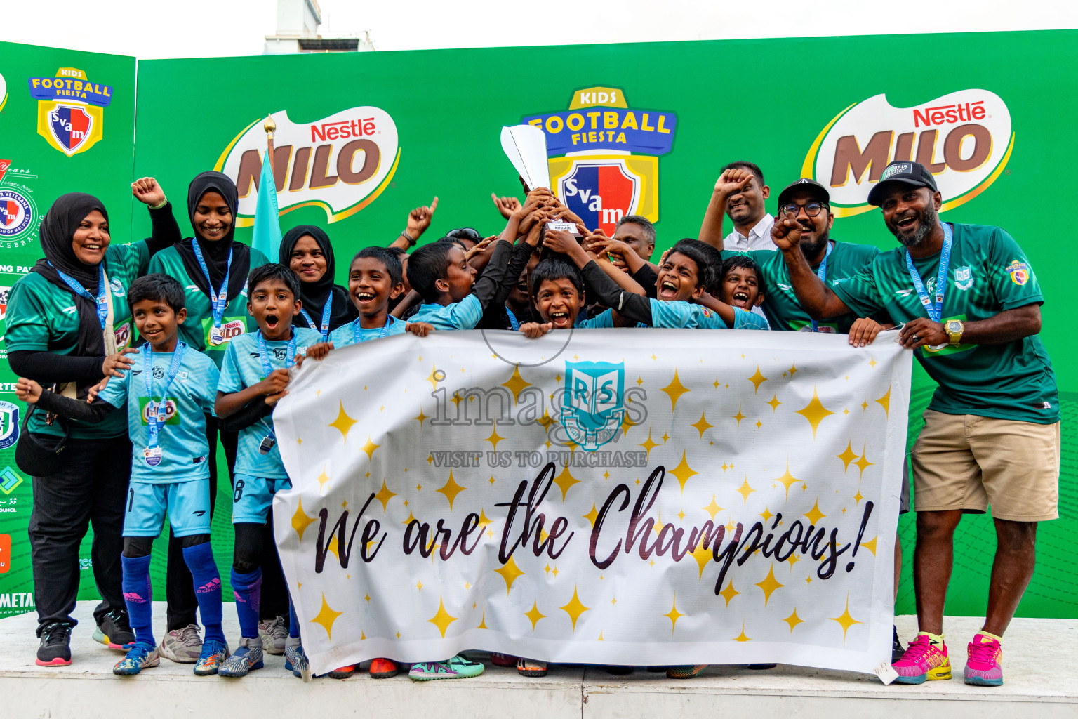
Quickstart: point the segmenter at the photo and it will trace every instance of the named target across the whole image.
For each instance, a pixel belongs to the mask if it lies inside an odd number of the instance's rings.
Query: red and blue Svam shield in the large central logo
[[[636,212],[640,178],[623,160],[576,160],[558,181],[557,194],[586,226],[613,236],[618,220]]]

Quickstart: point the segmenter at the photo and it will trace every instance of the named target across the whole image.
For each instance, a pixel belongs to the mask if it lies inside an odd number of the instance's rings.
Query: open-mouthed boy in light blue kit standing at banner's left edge
[[[239,430],[232,504],[236,533],[232,589],[243,636],[236,652],[218,672],[225,677],[244,677],[263,666],[259,636],[263,526],[274,494],[292,486],[277,450],[271,415],[288,391],[289,368],[302,362],[304,356],[320,359],[329,351],[317,330],[292,324],[302,305],[300,279],[294,272],[281,264],[264,264],[251,271],[247,287],[247,312],[258,322],[259,331],[229,344],[216,402],[222,425]],[[309,680],[291,603],[289,620],[286,659],[298,676]]]

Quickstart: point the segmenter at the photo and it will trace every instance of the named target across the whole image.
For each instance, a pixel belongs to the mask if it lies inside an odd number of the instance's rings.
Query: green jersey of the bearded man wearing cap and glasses
[[[760,265],[763,277],[760,278],[760,291],[763,292],[763,304],[760,308],[768,317],[772,330],[789,332],[811,332],[812,317],[798,302],[790,284],[790,273],[786,268],[783,253],[777,250],[749,250],[747,252],[723,251],[722,258],[735,254],[747,254]],[[827,258],[827,273],[824,281],[833,287],[847,277],[853,277],[867,267],[880,254],[880,250],[871,245],[855,245],[853,243],[834,241],[831,253]],[[819,265],[812,265],[817,272]],[[819,332],[849,334],[849,328],[857,315],[848,314],[817,322]],[[863,315],[861,315],[863,317]]]

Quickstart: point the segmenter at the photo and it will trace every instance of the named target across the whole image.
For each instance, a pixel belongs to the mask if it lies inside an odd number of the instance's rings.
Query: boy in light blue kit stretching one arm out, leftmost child
[[[150,551],[166,512],[183,543],[183,558],[194,578],[206,626],[194,673],[217,674],[229,656],[221,630],[221,578],[209,544],[205,413],[213,410],[217,365],[179,341],[186,310],[183,287],[176,279],[160,274],[140,277],[128,288],[127,303],[139,335],[148,343],[130,372],[109,378],[89,404],[42,391],[38,383],[25,378],[18,381],[16,393],[49,412],[87,423],[101,421],[113,410],[127,407],[132,480],[121,562],[135,645],[113,674],[138,674],[161,663],[151,624]]]

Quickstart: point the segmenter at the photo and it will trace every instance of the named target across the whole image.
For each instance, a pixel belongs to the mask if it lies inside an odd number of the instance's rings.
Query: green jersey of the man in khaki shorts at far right
[[[1036,275],[1018,243],[999,227],[952,224],[954,239],[941,321],[976,321],[1031,304],[1044,304]],[[915,259],[929,298],[936,296],[940,253]],[[886,308],[896,322],[927,317],[896,248],[831,289],[856,313]],[[1055,373],[1036,335],[1001,345],[950,345],[914,350],[939,383],[928,409],[1050,425],[1060,419]]]

